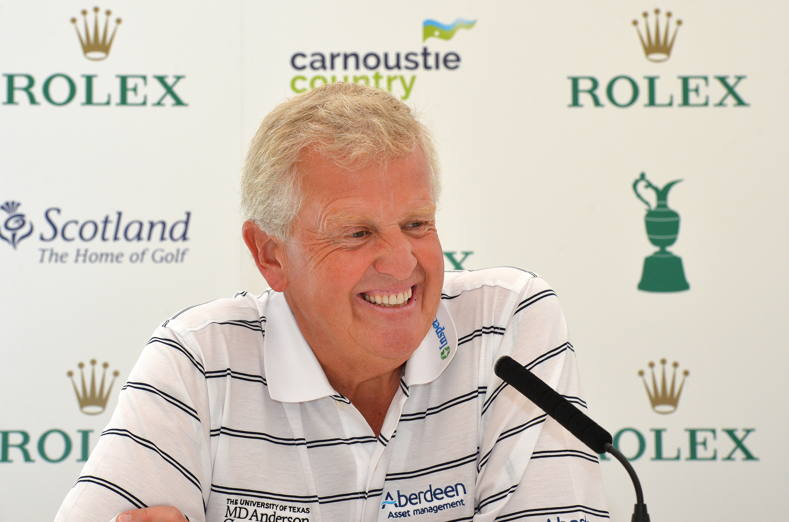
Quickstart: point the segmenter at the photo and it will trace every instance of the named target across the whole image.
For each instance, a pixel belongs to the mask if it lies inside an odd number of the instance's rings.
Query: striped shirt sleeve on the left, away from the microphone
[[[174,505],[204,522],[211,490],[211,430],[203,362],[172,329],[144,348],[118,407],[55,522],[106,522]]]

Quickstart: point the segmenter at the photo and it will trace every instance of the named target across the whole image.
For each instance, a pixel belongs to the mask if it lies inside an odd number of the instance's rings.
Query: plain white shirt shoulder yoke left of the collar
[[[196,332],[208,325],[237,325],[250,329],[264,328],[264,312],[270,291],[252,295],[241,291],[230,298],[188,306],[162,323],[164,328],[172,329],[180,335]]]

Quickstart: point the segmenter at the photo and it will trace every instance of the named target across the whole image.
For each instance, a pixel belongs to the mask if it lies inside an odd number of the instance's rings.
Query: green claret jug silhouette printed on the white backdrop
[[[685,280],[685,271],[682,269],[682,257],[675,256],[666,250],[677,240],[679,233],[679,214],[668,208],[668,191],[681,179],[667,183],[662,189],[657,188],[645,174],[633,183],[633,190],[636,196],[647,206],[646,216],[646,235],[654,246],[660,248],[656,253],[645,258],[644,272],[641,274],[641,282],[638,290],[649,292],[677,292],[687,290],[690,285]],[[646,187],[655,191],[657,205],[655,208],[649,205],[641,193],[638,192],[638,184],[643,183]]]

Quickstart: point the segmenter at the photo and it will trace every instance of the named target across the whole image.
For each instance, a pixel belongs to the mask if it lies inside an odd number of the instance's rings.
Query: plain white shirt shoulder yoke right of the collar
[[[441,298],[455,299],[464,293],[481,297],[485,294],[504,291],[520,295],[525,287],[536,280],[544,280],[534,272],[514,266],[497,266],[480,270],[447,270],[444,272],[444,284]],[[472,292],[482,290],[481,292]],[[486,291],[487,290],[487,291]]]

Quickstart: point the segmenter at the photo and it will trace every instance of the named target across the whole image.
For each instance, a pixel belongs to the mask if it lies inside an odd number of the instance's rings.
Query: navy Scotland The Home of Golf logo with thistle
[[[38,243],[36,262],[64,265],[180,264],[185,262],[189,248],[189,222],[192,212],[183,211],[168,219],[131,218],[118,210],[97,219],[75,219],[60,207],[43,210],[33,220],[19,211],[19,201],[6,201],[0,209],[9,216],[2,222],[0,238],[13,250],[28,238]],[[33,232],[38,231],[34,235]],[[140,246],[121,250],[121,246]],[[26,250],[26,249],[22,249]]]

